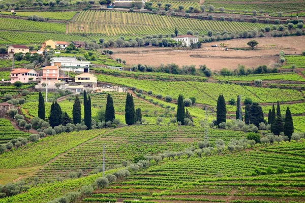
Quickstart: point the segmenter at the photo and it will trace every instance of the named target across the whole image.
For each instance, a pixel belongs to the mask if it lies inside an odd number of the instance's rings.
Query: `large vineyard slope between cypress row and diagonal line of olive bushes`
[[[210,130],[210,141],[223,139],[226,143],[245,134],[230,130]],[[103,144],[106,143],[106,166],[112,168],[123,160],[132,161],[146,154],[179,151],[196,146],[202,141],[204,128],[190,126],[135,125],[114,129],[86,142],[65,156],[48,164],[37,176],[52,180],[56,176],[69,177],[71,172],[82,170],[85,175],[102,164]]]

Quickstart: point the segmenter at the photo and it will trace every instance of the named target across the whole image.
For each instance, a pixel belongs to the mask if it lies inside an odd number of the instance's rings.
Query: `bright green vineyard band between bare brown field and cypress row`
[[[303,98],[302,93],[297,90],[277,89],[277,88],[259,88],[239,85],[202,83],[202,82],[161,82],[150,80],[136,80],[132,78],[119,78],[107,75],[98,75],[101,82],[110,82],[129,87],[136,87],[144,91],[152,90],[153,94],[162,94],[163,96],[171,95],[178,98],[183,94],[186,98],[196,97],[197,103],[216,106],[216,100],[219,94],[229,100],[236,98],[238,94],[243,97],[252,98],[259,103],[275,103],[279,101],[294,101]],[[230,91],[228,91],[230,89]],[[217,90],[217,93],[215,93]]]

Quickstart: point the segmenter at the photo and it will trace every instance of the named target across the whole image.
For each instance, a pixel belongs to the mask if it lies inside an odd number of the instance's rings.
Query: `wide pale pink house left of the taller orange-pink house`
[[[31,81],[36,81],[38,73],[33,69],[13,69],[11,70],[11,83],[20,81],[22,83],[28,83]],[[31,80],[29,80],[31,79]]]

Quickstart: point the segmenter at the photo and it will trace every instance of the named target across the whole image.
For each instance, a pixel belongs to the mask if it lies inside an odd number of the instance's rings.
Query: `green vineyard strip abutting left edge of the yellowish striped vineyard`
[[[20,31],[65,32],[66,25],[64,23],[34,22],[28,20],[0,18],[0,29]]]

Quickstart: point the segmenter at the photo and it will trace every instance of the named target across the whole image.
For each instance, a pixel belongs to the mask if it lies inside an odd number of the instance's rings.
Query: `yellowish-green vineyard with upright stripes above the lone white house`
[[[178,27],[180,33],[193,30],[200,34],[207,30],[239,32],[265,27],[266,24],[223,22],[161,16],[155,14],[83,11],[68,25],[69,33],[102,33],[104,35],[170,34]]]

